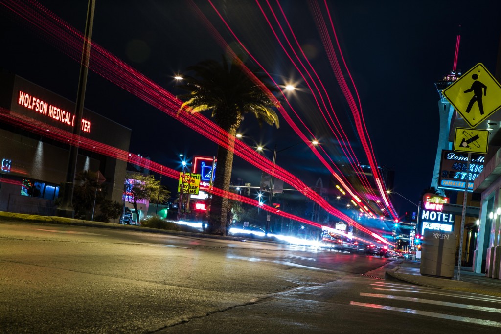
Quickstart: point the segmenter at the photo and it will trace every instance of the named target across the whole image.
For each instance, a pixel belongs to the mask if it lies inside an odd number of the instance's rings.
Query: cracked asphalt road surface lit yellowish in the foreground
[[[0,252],[0,332],[499,330],[499,313],[492,310],[473,313],[479,319],[487,313],[484,320],[492,322],[464,321],[473,311],[461,307],[437,317],[445,312],[442,307],[449,307],[444,300],[473,299],[386,282],[381,266],[391,267],[392,260],[373,256],[249,240],[5,222],[0,223]],[[418,301],[373,296],[395,287],[411,292],[384,293],[431,296],[440,302],[419,302],[422,309],[414,309],[410,306]],[[490,298],[476,296],[474,301],[497,309],[501,298]],[[422,313],[427,310],[435,317]]]

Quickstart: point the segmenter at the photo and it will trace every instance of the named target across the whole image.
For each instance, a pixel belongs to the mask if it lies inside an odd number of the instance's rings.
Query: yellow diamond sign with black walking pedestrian
[[[501,86],[480,63],[442,94],[472,128],[501,107]]]

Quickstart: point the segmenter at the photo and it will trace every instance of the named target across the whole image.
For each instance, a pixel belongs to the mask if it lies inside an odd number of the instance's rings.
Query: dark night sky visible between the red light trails
[[[86,0],[40,3],[77,30],[84,31]],[[276,2],[270,3],[273,3],[275,14],[281,16]],[[191,4],[184,1],[97,0],[93,42],[178,95],[182,92],[174,87],[175,74],[182,74],[186,67],[201,60],[219,60],[224,54],[224,49],[207,29],[207,23],[238,52],[210,3],[194,1],[203,17]],[[280,48],[258,4],[273,20],[272,11],[262,0],[213,2],[229,27],[273,74],[277,83],[285,82],[286,78],[296,83],[298,90],[288,95],[288,99],[306,126],[325,145],[332,160],[348,172],[349,169],[343,167],[347,164],[346,158],[340,154],[339,144],[319,116],[313,94]],[[334,112],[359,162],[367,164],[309,2],[281,1],[280,4],[299,44],[329,92]],[[353,0],[328,1],[327,4],[344,60],[360,96],[376,161],[380,166],[395,169],[392,190],[417,203],[422,190],[430,186],[438,140],[439,95],[434,82],[452,70],[459,32],[458,69],[466,72],[475,64],[483,63],[491,73],[495,72],[501,2]],[[319,6],[324,9],[326,19],[324,3],[319,2]],[[75,101],[79,64],[26,29],[25,22],[12,19],[4,8],[1,13],[0,67]],[[287,28],[283,17],[281,23]],[[274,28],[278,29],[278,25],[274,24]],[[280,41],[286,43],[283,37]],[[339,54],[337,58],[342,61]],[[216,153],[214,143],[91,72],[85,106],[132,129],[130,152],[149,156],[170,168],[179,168],[180,153],[188,157]],[[269,147],[277,145],[280,150],[300,141],[283,119],[281,122],[278,130],[266,125],[260,129],[249,118],[240,129]],[[306,145],[281,152],[277,164],[312,186],[320,176],[324,178],[324,185],[328,181],[327,170]],[[235,157],[233,175],[257,183],[260,171]],[[169,182],[166,184],[173,189],[174,182]],[[398,213],[416,209],[399,196],[392,200]]]

